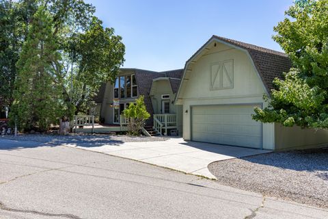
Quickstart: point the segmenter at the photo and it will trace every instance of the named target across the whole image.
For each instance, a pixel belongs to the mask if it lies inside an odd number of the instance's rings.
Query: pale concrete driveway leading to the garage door
[[[169,138],[167,141],[159,142],[124,142],[102,146],[90,146],[90,144],[66,144],[66,146],[135,159],[210,179],[215,179],[215,176],[207,168],[208,164],[212,162],[269,152],[236,146],[186,142],[182,138]]]

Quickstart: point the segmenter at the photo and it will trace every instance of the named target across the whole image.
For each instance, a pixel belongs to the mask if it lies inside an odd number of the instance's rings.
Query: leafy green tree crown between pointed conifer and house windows
[[[93,17],[90,28],[77,34],[74,40],[75,64],[72,102],[77,112],[87,110],[87,104],[105,81],[114,81],[124,62],[125,47],[112,28],[103,28]]]

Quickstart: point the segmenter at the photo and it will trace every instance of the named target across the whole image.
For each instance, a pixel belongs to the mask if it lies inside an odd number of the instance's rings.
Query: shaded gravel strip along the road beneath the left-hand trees
[[[46,135],[46,134],[20,134],[15,136],[0,136],[10,140],[42,142],[46,144],[120,144],[124,142],[156,142],[165,141],[165,137],[146,137],[146,136],[117,136],[117,135],[87,135],[83,133],[72,133],[68,136]]]

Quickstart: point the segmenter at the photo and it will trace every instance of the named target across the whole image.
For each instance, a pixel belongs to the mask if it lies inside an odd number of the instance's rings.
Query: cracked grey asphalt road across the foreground
[[[328,211],[129,159],[0,138],[0,218],[299,219]]]

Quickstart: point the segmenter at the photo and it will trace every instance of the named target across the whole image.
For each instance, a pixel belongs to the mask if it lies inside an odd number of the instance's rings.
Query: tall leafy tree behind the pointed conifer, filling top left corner
[[[29,23],[38,7],[49,12],[53,24],[53,36],[58,42],[66,41],[70,33],[90,26],[95,8],[81,0],[0,0],[0,112],[12,104],[12,92],[16,78],[19,53],[27,40]],[[59,44],[59,51],[64,51]]]

